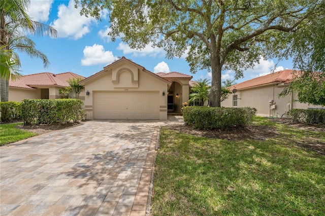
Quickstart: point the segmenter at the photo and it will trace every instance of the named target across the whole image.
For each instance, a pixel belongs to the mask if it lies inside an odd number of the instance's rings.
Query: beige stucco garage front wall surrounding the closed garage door
[[[129,75],[130,72],[124,71],[123,68],[128,68],[134,73],[133,81],[131,78],[132,76]],[[119,73],[119,82],[112,82],[116,80],[116,77],[114,77],[117,74],[116,71],[121,71],[121,69],[123,71]],[[107,67],[102,72],[84,83],[84,91],[89,91],[89,95],[85,95],[84,101],[87,119],[93,119],[94,91],[159,91],[159,119],[167,120],[167,82],[127,62],[121,62],[113,67]],[[121,78],[123,80],[121,80]],[[166,93],[165,96],[163,96],[163,92]]]

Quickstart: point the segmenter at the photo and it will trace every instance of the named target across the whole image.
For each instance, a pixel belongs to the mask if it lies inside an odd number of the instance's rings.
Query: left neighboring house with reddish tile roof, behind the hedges
[[[78,77],[84,79],[84,77],[71,72],[61,74],[46,72],[16,77],[14,80],[9,80],[9,101],[60,98],[59,89],[68,87],[67,81]],[[82,92],[79,99],[84,100],[84,97],[84,92]]]

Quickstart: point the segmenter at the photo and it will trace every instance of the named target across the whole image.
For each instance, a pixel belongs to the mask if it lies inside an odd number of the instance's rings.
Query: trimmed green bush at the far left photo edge
[[[19,102],[0,102],[2,122],[11,122],[21,118],[21,104]]]

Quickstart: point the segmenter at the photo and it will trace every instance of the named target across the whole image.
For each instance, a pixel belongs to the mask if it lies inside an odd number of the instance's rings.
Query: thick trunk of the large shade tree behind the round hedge
[[[213,58],[211,55],[211,89],[209,96],[209,103],[211,107],[220,107],[220,97],[221,97],[221,68],[222,65],[219,61]]]

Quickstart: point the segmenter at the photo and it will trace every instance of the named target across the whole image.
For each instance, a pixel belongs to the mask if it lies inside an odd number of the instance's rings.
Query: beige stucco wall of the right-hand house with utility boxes
[[[281,117],[290,109],[307,109],[308,107],[321,107],[314,106],[306,103],[300,103],[295,101],[297,96],[291,94],[285,97],[279,97],[279,94],[285,86],[281,85],[265,85],[258,88],[249,88],[238,90],[235,95],[238,95],[238,106],[255,107],[257,110],[257,116],[263,117]],[[230,94],[229,98],[221,102],[221,106],[233,107],[233,95]],[[272,104],[269,102],[273,100],[275,109],[270,109]]]

